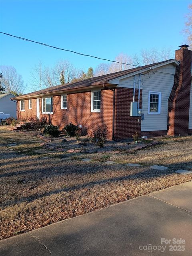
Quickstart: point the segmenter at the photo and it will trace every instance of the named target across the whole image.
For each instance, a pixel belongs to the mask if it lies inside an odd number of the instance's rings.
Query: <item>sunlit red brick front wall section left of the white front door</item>
[[[25,100],[25,111],[20,111],[20,100],[17,102],[17,119],[27,120],[36,117],[36,99],[32,99],[32,109],[29,109],[29,100]]]

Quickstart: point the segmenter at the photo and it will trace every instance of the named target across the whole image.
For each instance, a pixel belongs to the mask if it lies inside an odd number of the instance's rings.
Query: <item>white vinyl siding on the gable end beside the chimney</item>
[[[172,64],[153,70],[154,73],[141,76],[142,113],[141,131],[167,130],[168,98],[174,84],[175,66]],[[138,75],[136,75],[136,89],[138,89]],[[134,76],[120,80],[119,87],[133,88]],[[148,114],[148,97],[150,91],[161,93],[160,114]]]

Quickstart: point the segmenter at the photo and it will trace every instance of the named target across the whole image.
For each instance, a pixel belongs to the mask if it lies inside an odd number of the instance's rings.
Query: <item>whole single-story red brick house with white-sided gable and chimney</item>
[[[61,129],[72,122],[88,132],[107,124],[110,139],[191,134],[191,63],[182,45],[175,59],[18,96],[18,119],[46,116]]]

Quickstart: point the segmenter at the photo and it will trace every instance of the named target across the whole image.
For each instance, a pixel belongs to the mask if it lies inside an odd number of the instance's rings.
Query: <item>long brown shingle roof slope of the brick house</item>
[[[171,61],[171,60],[173,60],[173,59],[169,59],[169,60],[166,60],[166,61],[160,61],[160,62],[157,62],[157,63],[153,63],[153,64],[141,66],[141,67],[136,67],[136,68],[133,68],[133,69],[118,71],[118,72],[110,73],[110,74],[107,74],[107,75],[100,75],[98,77],[92,77],[92,78],[88,78],[88,79],[78,81],[78,82],[74,82],[74,83],[66,83],[64,85],[57,85],[57,86],[54,86],[54,87],[46,88],[44,90],[39,90],[39,91],[34,91],[34,92],[31,92],[31,93],[27,93],[27,94],[15,97],[14,99],[18,100],[20,98],[26,98],[28,96],[33,96],[33,95],[35,96],[35,95],[39,95],[39,94],[54,93],[56,91],[66,91],[66,90],[71,90],[71,89],[80,89],[80,88],[89,87],[89,86],[93,86],[93,85],[99,85],[99,84],[102,84],[102,83],[108,83],[109,80],[121,77],[123,75],[128,75],[130,73],[140,71],[140,70],[146,69],[148,67],[153,67],[153,66],[161,64],[161,63],[166,63],[166,62]]]

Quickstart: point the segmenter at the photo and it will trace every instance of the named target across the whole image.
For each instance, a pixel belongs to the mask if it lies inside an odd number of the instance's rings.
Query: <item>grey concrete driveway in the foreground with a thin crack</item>
[[[191,256],[191,212],[188,182],[2,240],[0,256]]]

